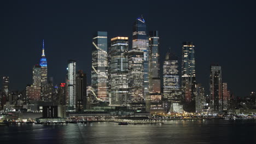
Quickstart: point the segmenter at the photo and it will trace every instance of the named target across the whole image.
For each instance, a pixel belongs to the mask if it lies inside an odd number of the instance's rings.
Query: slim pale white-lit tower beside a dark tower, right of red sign
[[[76,107],[76,88],[75,88],[75,74],[76,74],[76,63],[73,60],[68,61],[67,75],[66,75],[66,102],[68,111],[75,111]]]

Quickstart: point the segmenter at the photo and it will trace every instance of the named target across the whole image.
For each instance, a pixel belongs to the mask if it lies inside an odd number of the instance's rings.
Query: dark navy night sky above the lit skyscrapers
[[[182,42],[193,41],[197,82],[208,89],[210,64],[217,63],[223,81],[243,97],[256,91],[255,7],[234,0],[1,1],[0,76],[10,77],[12,90],[32,83],[44,39],[55,84],[65,82],[68,59],[90,77],[92,35],[107,31],[109,38],[131,39],[133,22],[143,14],[148,30],[159,31],[161,61],[169,47],[181,59]]]

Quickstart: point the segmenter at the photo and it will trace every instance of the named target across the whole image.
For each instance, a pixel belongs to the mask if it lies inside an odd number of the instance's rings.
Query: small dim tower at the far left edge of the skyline
[[[1,106],[4,107],[6,101],[9,101],[9,76],[3,77],[3,89],[2,89],[2,98]]]

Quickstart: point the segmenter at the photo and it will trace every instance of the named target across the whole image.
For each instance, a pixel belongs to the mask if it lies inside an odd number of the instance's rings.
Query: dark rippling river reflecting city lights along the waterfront
[[[0,143],[256,143],[255,120],[164,123],[11,124],[0,127]]]

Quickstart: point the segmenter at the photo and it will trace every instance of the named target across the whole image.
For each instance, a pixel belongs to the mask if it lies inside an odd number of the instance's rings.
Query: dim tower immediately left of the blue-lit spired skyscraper
[[[33,66],[33,93],[30,100],[41,100],[41,66],[36,64]]]

